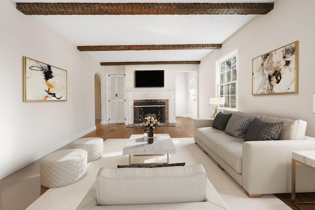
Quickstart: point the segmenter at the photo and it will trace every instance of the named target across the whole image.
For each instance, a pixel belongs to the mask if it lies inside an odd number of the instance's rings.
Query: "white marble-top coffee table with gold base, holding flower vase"
[[[143,134],[132,134],[123,149],[124,155],[129,155],[129,165],[160,165],[169,163],[169,154],[176,153],[176,148],[169,134],[154,134],[155,141],[148,144],[143,141]],[[163,163],[131,163],[132,155],[164,155],[167,162]]]

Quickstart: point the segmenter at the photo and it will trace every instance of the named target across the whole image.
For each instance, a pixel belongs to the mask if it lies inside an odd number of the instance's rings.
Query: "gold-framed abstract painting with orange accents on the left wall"
[[[24,101],[66,101],[67,71],[23,57]]]

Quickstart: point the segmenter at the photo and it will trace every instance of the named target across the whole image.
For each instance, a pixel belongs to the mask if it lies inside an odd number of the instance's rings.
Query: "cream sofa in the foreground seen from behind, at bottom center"
[[[228,210],[202,165],[101,168],[77,210]]]

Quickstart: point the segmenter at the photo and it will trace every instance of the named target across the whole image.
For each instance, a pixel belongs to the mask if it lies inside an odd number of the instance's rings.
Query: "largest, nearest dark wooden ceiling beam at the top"
[[[26,15],[267,14],[274,3],[16,3]]]

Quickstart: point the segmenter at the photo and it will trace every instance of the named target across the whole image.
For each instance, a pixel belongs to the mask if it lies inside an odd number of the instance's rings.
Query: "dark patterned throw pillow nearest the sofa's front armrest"
[[[280,136],[283,124],[283,122],[264,122],[255,118],[248,128],[244,141],[276,140]]]

